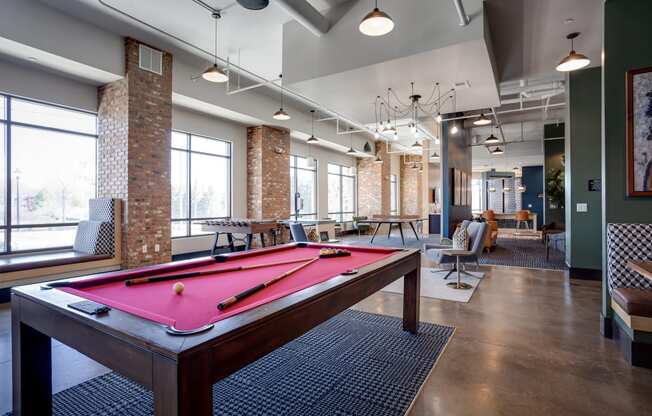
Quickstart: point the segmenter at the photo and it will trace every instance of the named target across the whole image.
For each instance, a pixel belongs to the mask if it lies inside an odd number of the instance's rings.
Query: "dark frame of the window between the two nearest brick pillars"
[[[209,221],[209,220],[223,220],[223,219],[229,219],[233,215],[233,142],[230,140],[225,140],[225,139],[218,139],[216,137],[209,137],[204,134],[195,134],[191,133],[188,131],[183,131],[183,130],[178,130],[178,129],[172,129],[172,133],[178,133],[178,134],[183,134],[186,136],[186,148],[178,148],[172,146],[172,142],[170,141],[170,156],[172,155],[172,151],[180,151],[184,152],[186,156],[186,186],[188,187],[188,206],[187,212],[188,216],[186,218],[172,218],[172,215],[170,215],[170,226],[175,222],[180,222],[186,223],[186,234],[185,235],[178,235],[175,237],[172,237],[172,239],[178,239],[178,238],[192,238],[192,237],[199,237],[203,235],[210,235],[213,233],[210,232],[202,232],[199,234],[193,234],[192,233],[192,224],[193,222],[196,221]],[[207,153],[207,152],[202,152],[198,150],[192,150],[192,138],[193,137],[198,137],[202,139],[209,139],[209,140],[216,140],[220,141],[223,143],[226,143],[228,145],[228,155],[219,155],[215,153]],[[222,159],[226,159],[228,161],[228,179],[226,181],[228,189],[227,189],[227,197],[228,197],[228,202],[227,202],[227,208],[228,212],[226,216],[223,217],[193,217],[192,216],[192,155],[193,154],[198,154],[198,155],[203,155],[203,156],[211,156],[211,157],[218,157]],[[170,176],[172,173],[172,159],[170,158]],[[170,195],[170,204],[172,204],[172,195]],[[170,213],[171,214],[171,213]]]

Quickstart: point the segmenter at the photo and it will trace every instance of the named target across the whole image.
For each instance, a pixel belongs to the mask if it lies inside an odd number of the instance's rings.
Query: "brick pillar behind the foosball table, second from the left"
[[[247,128],[247,217],[290,217],[290,131]]]

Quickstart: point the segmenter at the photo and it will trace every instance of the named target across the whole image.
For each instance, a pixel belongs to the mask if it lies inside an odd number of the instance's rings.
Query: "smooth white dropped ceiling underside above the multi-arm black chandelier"
[[[310,79],[289,87],[363,123],[374,123],[376,97],[385,96],[386,89],[392,88],[401,101],[407,103],[412,81],[415,93],[421,94],[423,100],[431,95],[435,82],[440,83],[442,92],[457,82],[469,82],[470,88],[458,90],[455,107],[449,101],[442,113],[499,104],[491,61],[482,40]]]

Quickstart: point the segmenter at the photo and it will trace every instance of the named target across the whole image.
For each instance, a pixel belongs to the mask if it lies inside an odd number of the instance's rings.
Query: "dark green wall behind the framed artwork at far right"
[[[606,226],[614,222],[652,222],[652,198],[626,194],[625,73],[652,66],[652,1],[604,3],[602,88],[603,304],[610,316],[606,285]]]

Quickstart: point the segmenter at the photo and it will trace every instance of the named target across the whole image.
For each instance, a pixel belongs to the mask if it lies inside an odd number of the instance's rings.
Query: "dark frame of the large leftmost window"
[[[0,224],[0,232],[4,233],[5,237],[5,243],[4,243],[4,250],[0,249],[0,255],[8,255],[8,254],[24,254],[24,253],[40,253],[40,252],[50,252],[50,251],[61,251],[61,250],[68,250],[72,248],[72,245],[69,246],[53,246],[53,247],[43,247],[43,248],[36,248],[36,249],[29,249],[29,250],[13,250],[12,249],[12,233],[13,230],[20,230],[20,229],[38,229],[38,228],[64,228],[64,227],[73,227],[77,226],[79,222],[57,222],[57,223],[33,223],[33,224],[13,224],[13,218],[12,218],[12,200],[13,200],[13,190],[12,190],[12,177],[11,177],[11,170],[12,170],[12,127],[24,127],[24,128],[31,128],[31,129],[36,129],[36,130],[42,130],[42,131],[50,131],[50,132],[55,132],[55,133],[63,133],[63,134],[70,134],[70,135],[75,135],[75,136],[81,136],[81,137],[88,137],[91,139],[94,139],[94,146],[95,146],[95,190],[93,197],[97,196],[97,139],[98,139],[98,121],[97,121],[97,113],[93,111],[88,111],[88,110],[81,110],[78,108],[72,108],[68,107],[65,105],[61,104],[54,104],[54,103],[49,103],[41,100],[36,100],[32,98],[27,98],[27,97],[21,97],[21,96],[16,96],[16,95],[11,95],[11,94],[5,94],[5,93],[0,93],[0,97],[4,99],[4,115],[0,114],[0,128],[4,129],[4,162],[5,162],[5,169],[4,169],[4,174],[5,174],[5,195],[4,195],[4,201],[2,201],[2,204],[5,206],[5,218],[4,218],[4,224]],[[12,102],[13,100],[19,100],[19,101],[26,101],[46,107],[55,107],[55,108],[60,108],[64,110],[69,110],[69,111],[75,111],[78,113],[84,113],[84,114],[89,114],[95,117],[95,134],[92,133],[87,133],[87,132],[81,132],[81,131],[75,131],[75,130],[68,130],[68,129],[60,129],[56,127],[48,127],[48,126],[42,126],[38,124],[32,124],[32,123],[23,123],[23,122],[18,122],[18,121],[13,121],[12,120],[12,114],[11,114],[11,107],[12,107]],[[3,118],[4,116],[4,118]],[[2,198],[2,196],[0,196]]]

